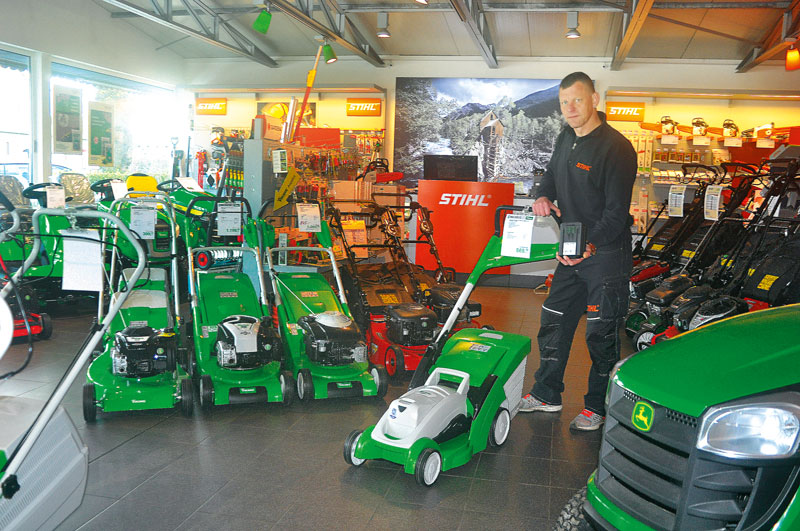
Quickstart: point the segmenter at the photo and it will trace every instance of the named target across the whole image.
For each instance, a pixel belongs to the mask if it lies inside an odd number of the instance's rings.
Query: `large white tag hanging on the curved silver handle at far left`
[[[70,291],[103,290],[103,257],[100,253],[100,237],[96,230],[62,230],[64,276],[61,289]],[[77,236],[85,239],[72,239]]]

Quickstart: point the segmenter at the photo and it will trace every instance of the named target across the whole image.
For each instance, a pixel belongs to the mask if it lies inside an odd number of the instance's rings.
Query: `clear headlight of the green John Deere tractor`
[[[712,408],[703,416],[697,448],[732,458],[783,458],[797,451],[800,407],[755,404]]]

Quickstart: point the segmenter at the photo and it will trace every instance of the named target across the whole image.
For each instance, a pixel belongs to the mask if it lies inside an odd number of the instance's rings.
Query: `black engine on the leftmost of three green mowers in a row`
[[[175,370],[175,334],[170,329],[130,325],[117,332],[111,349],[112,372],[145,378]]]

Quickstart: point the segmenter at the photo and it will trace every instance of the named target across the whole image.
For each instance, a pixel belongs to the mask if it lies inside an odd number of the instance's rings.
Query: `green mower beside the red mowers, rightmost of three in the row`
[[[286,366],[304,402],[313,399],[375,396],[383,398],[389,375],[370,367],[364,332],[353,320],[332,250],[328,224],[317,239],[322,247],[272,247],[267,267]],[[330,259],[336,291],[316,266],[277,265],[282,252],[322,253]],[[338,295],[337,295],[338,292]]]

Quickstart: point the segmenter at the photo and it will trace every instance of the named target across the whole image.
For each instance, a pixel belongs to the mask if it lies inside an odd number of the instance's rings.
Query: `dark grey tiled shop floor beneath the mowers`
[[[528,289],[480,287],[481,321],[536,335],[544,296]],[[36,342],[29,367],[0,383],[0,395],[45,399],[83,341],[91,315],[55,319],[53,337]],[[348,466],[342,445],[374,424],[406,390],[384,400],[326,400],[218,407],[185,419],[176,411],[101,414],[86,425],[75,382],[64,406],[89,447],[83,504],[62,530],[260,529],[550,529],[563,504],[597,463],[600,433],[575,433],[589,357],[576,334],[565,378],[564,410],[521,413],[500,449],[445,472],[432,488],[401,467],[370,461]],[[24,359],[13,345],[0,372]],[[630,353],[623,339],[623,355]],[[533,346],[526,389],[539,365]]]

